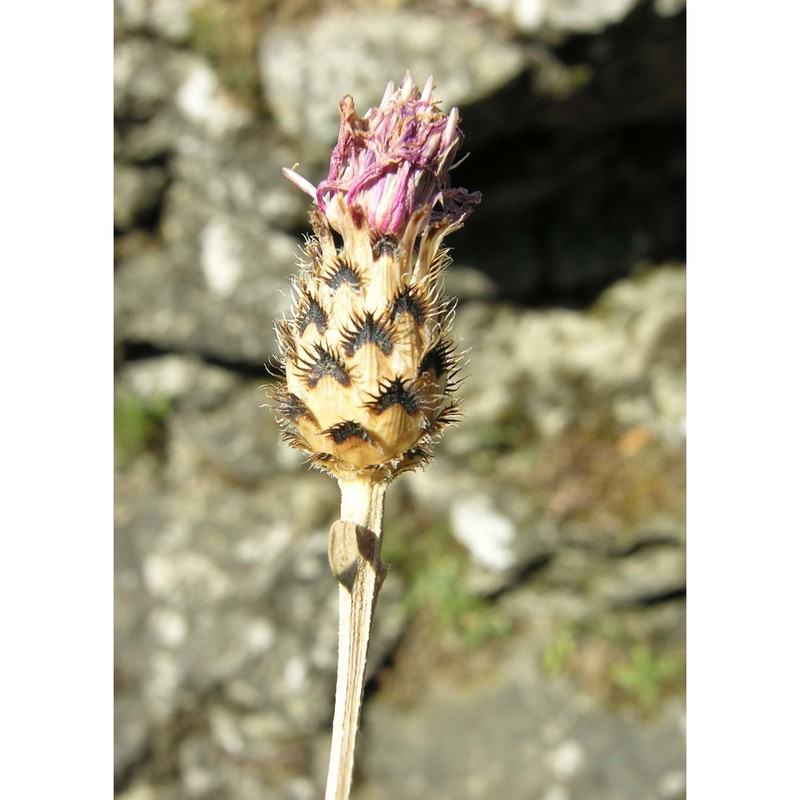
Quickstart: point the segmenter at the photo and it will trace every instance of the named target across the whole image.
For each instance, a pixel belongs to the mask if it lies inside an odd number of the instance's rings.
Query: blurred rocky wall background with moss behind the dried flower
[[[685,10],[116,0],[117,795],[322,795],[333,481],[262,407],[337,105],[462,112],[467,418],[389,492],[356,800],[685,795]]]

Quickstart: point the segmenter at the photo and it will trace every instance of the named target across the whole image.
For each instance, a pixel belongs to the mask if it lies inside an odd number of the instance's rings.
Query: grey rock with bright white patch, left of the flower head
[[[265,364],[277,354],[273,321],[290,305],[296,240],[220,213],[185,184],[174,184],[166,203],[168,248],[118,266],[118,338]]]

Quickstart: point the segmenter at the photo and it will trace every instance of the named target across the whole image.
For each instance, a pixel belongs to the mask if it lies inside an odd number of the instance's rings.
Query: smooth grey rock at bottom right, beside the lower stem
[[[356,800],[658,800],[659,781],[683,770],[680,709],[650,723],[615,717],[543,682],[532,655],[517,641],[471,690],[440,677],[410,708],[369,704]]]

